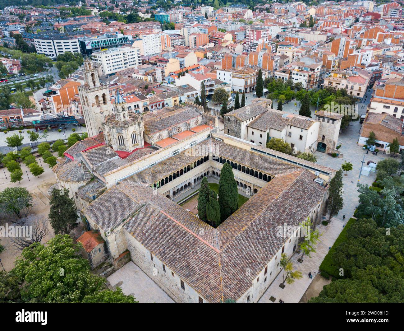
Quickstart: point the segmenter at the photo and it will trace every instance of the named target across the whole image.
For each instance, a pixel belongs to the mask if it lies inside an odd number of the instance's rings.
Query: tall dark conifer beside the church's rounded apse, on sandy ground
[[[69,189],[53,189],[48,217],[55,234],[70,234],[77,227],[77,208]]]

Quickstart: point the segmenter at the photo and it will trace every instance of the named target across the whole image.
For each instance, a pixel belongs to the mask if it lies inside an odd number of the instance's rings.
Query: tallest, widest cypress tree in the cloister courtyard
[[[238,208],[237,183],[229,163],[224,163],[219,180],[220,219],[223,222]]]

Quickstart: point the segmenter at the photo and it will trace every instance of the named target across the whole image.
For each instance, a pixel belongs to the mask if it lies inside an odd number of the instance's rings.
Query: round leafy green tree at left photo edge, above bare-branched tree
[[[0,191],[0,215],[25,218],[32,207],[32,196],[25,187],[7,187]]]

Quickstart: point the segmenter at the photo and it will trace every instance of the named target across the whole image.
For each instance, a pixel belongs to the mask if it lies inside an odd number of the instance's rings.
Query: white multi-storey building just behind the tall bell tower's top
[[[112,74],[141,64],[138,47],[116,47],[94,52],[92,58],[93,62],[101,64],[103,74]]]

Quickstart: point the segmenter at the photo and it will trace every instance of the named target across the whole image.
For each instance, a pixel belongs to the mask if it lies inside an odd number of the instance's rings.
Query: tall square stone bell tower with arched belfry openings
[[[111,102],[108,86],[100,84],[98,70],[88,57],[84,60],[84,85],[78,90],[88,136],[96,136],[105,116],[111,114]]]

